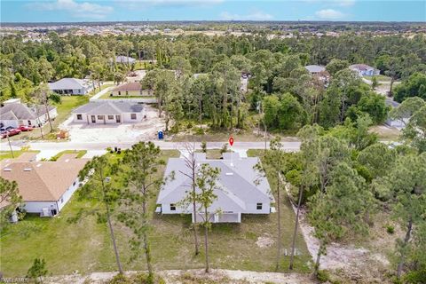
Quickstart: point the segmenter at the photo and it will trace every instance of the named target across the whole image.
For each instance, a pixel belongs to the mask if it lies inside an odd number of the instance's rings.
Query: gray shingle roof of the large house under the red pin
[[[220,177],[215,193],[217,201],[210,206],[209,210],[222,209],[224,211],[244,212],[248,203],[269,203],[273,201],[270,186],[265,177],[260,177],[254,170],[259,162],[258,158],[240,158],[233,155],[233,160],[205,160],[205,156],[197,155],[197,162],[201,165],[208,163],[211,167],[217,167]],[[203,160],[198,160],[203,159]],[[174,179],[170,180],[159,193],[157,203],[177,203],[185,198],[186,192],[190,190],[190,179],[181,171],[189,174],[190,170],[185,167],[183,158],[170,158],[165,171],[167,177],[174,171]]]

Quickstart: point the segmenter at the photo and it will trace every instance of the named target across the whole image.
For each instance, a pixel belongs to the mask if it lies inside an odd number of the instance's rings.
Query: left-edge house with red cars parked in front
[[[12,126],[17,128],[20,125],[39,127],[48,122],[45,106],[27,106],[20,102],[20,99],[9,99],[3,102],[0,107],[0,126],[2,128]],[[56,107],[49,106],[51,119],[58,116]]]

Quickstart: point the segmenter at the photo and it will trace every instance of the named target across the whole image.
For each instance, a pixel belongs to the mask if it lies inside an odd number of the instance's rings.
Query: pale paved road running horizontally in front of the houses
[[[155,145],[160,146],[164,150],[170,149],[182,149],[184,143],[182,142],[165,142],[165,141],[154,141]],[[21,146],[30,146],[32,150],[105,150],[106,147],[120,147],[122,149],[129,148],[134,143],[99,143],[99,142],[22,142],[22,141],[11,141],[12,148],[19,150]],[[224,142],[208,142],[207,147],[209,149],[221,148]],[[282,142],[283,149],[286,151],[298,151],[300,148],[300,142]],[[195,144],[197,148],[201,148],[201,143]],[[269,143],[266,144],[269,147]],[[7,142],[2,142],[0,147],[3,151],[7,151],[9,146]],[[264,142],[235,142],[233,145],[234,149],[264,149]]]

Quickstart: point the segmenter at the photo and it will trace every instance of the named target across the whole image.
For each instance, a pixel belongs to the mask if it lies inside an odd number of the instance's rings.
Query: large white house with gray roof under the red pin
[[[221,160],[207,160],[206,154],[196,154],[195,158],[198,168],[201,164],[208,163],[211,167],[220,169],[215,190],[217,200],[209,207],[210,222],[241,223],[241,214],[271,213],[271,203],[274,199],[269,183],[253,168],[259,158],[241,158],[238,154],[230,153],[224,154],[224,159]],[[182,203],[191,188],[191,179],[185,175],[190,175],[191,170],[185,166],[183,158],[170,158],[165,176],[172,172],[174,178],[166,183],[159,193],[156,212],[191,214],[194,221],[192,204]],[[202,222],[203,217],[203,212],[198,211],[197,222]]]

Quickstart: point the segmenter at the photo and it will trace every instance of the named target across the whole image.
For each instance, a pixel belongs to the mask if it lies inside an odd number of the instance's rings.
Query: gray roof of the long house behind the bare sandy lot
[[[123,114],[140,113],[144,109],[143,105],[134,104],[126,101],[101,101],[90,102],[86,105],[77,107],[73,114]]]

